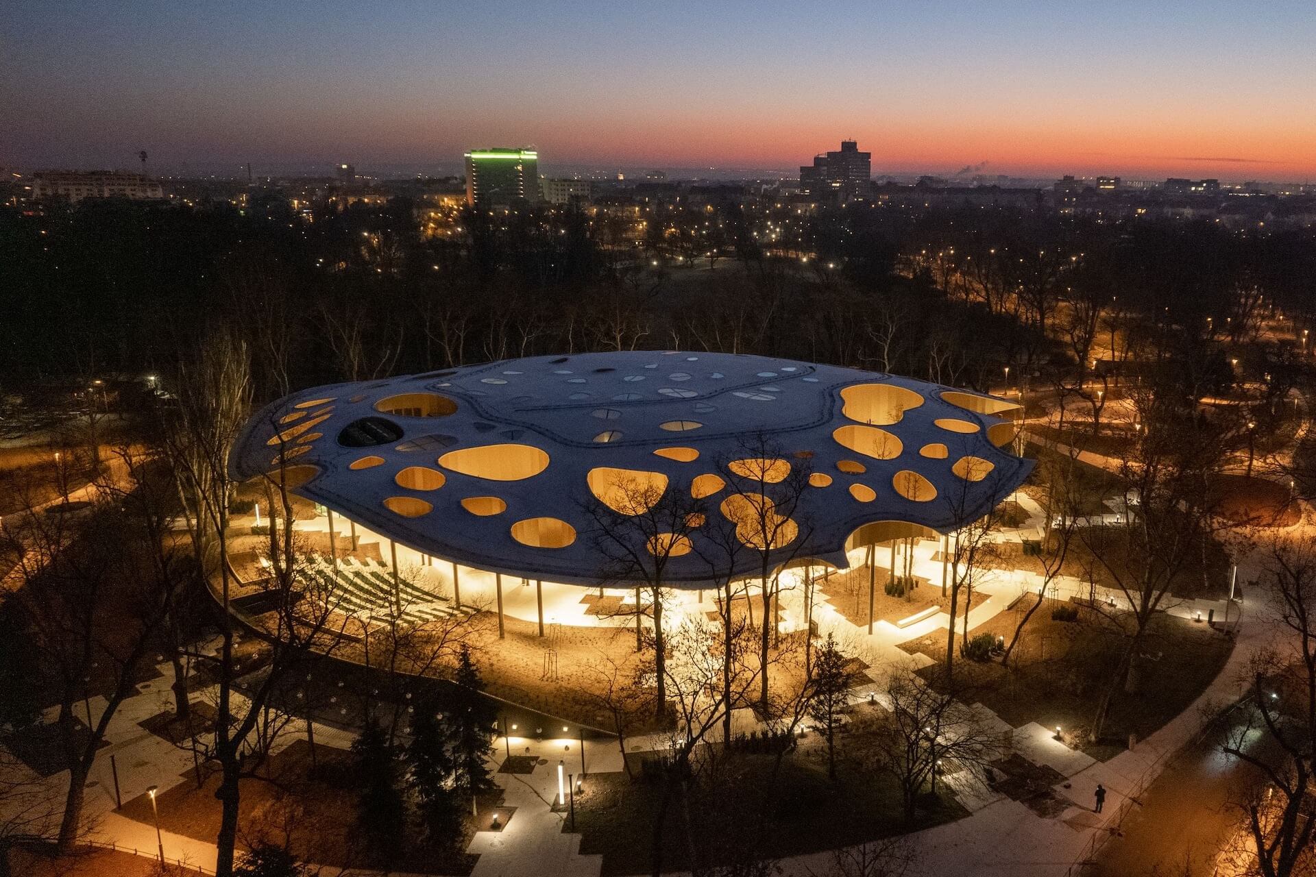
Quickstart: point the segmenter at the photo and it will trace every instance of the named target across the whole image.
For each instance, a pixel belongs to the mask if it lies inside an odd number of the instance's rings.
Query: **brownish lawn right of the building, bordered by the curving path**
[[[1013,610],[971,628],[970,638],[987,632],[1004,636],[1008,643],[1030,605],[1032,598],[1025,598]],[[1012,671],[1005,671],[999,660],[978,664],[957,657],[955,681],[969,689],[963,699],[982,701],[1015,727],[1028,722],[1042,727],[1059,724],[1066,736],[1073,732],[1076,744],[1094,757],[1111,757],[1126,748],[1129,734],[1144,739],[1187,709],[1219,676],[1233,650],[1232,639],[1205,623],[1157,614],[1138,660],[1140,690],[1132,694],[1120,690],[1101,740],[1084,744],[1124,640],[1109,621],[1087,609],[1080,609],[1078,622],[1053,621],[1051,609],[1058,605],[1046,600],[1033,613],[1011,656]],[[944,660],[945,646],[942,634],[904,643],[901,648]],[[940,667],[924,668],[920,675],[942,684]]]

